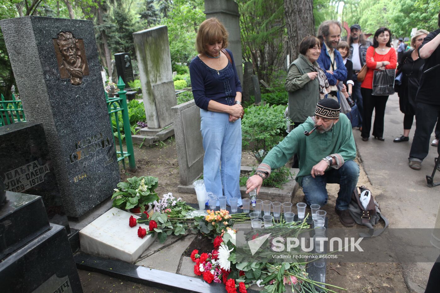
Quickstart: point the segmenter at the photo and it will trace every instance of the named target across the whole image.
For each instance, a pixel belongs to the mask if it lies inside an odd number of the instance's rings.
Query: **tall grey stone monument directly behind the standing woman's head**
[[[234,55],[238,78],[243,82],[242,41],[240,37],[240,14],[233,0],[205,0],[206,19],[215,17],[223,23],[229,33],[227,48]]]

